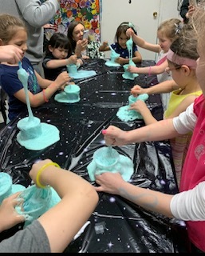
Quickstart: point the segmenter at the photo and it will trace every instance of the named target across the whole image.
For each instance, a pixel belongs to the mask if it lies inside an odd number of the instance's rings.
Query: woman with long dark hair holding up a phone
[[[83,38],[85,25],[83,22],[73,21],[69,23],[67,37],[71,42],[72,54],[76,54],[77,58],[86,59],[86,48],[88,46],[88,39]]]

